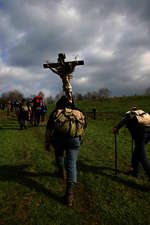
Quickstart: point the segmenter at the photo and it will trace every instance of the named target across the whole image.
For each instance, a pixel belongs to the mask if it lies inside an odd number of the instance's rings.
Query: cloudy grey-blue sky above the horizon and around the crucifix
[[[83,59],[73,93],[108,88],[143,94],[150,86],[150,0],[0,0],[0,94],[55,96],[60,78],[46,60]]]

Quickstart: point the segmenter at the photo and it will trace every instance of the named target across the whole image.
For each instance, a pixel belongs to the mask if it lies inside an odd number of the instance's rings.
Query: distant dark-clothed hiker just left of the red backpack
[[[27,128],[28,121],[28,106],[25,99],[22,99],[22,102],[19,106],[19,115],[18,115],[20,129],[23,130]]]

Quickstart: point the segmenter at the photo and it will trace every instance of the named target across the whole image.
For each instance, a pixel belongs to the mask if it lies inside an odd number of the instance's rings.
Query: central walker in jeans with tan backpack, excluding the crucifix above
[[[67,185],[65,201],[72,207],[73,187],[77,182],[77,157],[86,127],[84,114],[62,96],[56,103],[55,110],[51,113],[46,127],[46,149],[50,145],[55,149],[58,175],[64,178],[64,150],[66,150]]]

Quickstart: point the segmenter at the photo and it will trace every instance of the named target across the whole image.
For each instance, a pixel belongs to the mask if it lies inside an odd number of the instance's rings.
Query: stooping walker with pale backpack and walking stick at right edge
[[[117,134],[123,125],[127,126],[135,142],[132,154],[132,169],[128,172],[128,175],[138,177],[141,163],[150,178],[150,164],[145,153],[145,145],[150,140],[150,115],[133,107],[131,111],[125,113],[121,121],[114,127],[113,132]]]

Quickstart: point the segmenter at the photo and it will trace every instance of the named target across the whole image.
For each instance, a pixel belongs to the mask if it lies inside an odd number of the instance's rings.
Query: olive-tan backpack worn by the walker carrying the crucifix
[[[53,114],[54,132],[71,137],[82,136],[85,116],[77,109],[57,109]]]

